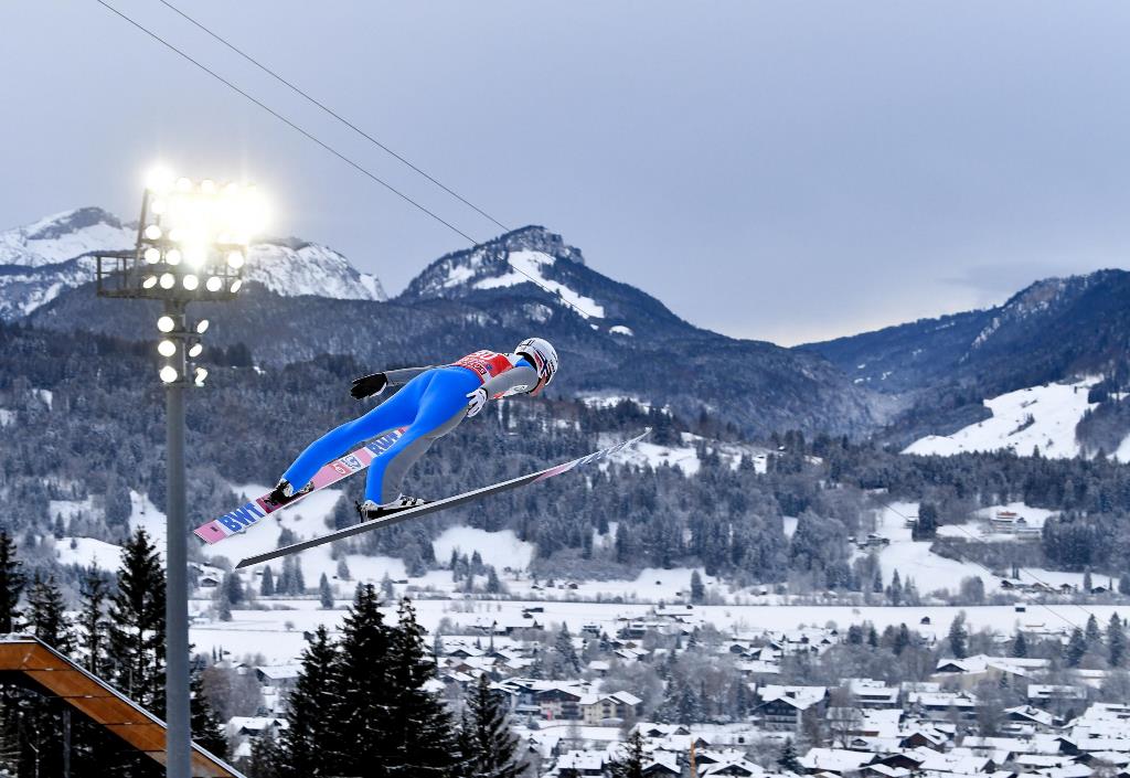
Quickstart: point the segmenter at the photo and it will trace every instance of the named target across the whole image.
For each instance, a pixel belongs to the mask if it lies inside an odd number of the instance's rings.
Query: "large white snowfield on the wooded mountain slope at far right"
[[[966,451],[1010,449],[1031,455],[1036,447],[1045,457],[1080,456],[1075,427],[1083,414],[1095,407],[1087,389],[1098,379],[1076,383],[1029,387],[984,400],[992,417],[971,424],[951,435],[928,435],[911,443],[904,453],[953,455]],[[1123,458],[1122,455],[1127,455]],[[1121,461],[1130,461],[1130,440],[1119,449]]]

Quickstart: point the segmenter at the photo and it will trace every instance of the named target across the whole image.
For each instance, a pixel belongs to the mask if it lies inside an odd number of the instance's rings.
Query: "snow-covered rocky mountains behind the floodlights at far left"
[[[101,208],[78,208],[0,233],[0,320],[26,315],[93,280],[94,253],[130,249],[136,241],[136,226]],[[252,245],[245,276],[286,297],[386,299],[375,276],[332,249],[293,237]]]

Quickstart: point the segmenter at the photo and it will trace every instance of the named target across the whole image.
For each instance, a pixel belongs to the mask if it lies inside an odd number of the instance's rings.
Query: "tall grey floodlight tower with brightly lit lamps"
[[[184,491],[184,389],[202,387],[195,363],[208,320],[188,315],[191,302],[235,300],[252,235],[263,226],[253,187],[194,182],[155,171],[141,200],[137,245],[97,257],[98,296],[159,300],[157,319],[165,384],[168,466],[165,548],[166,775],[191,777],[189,727],[188,524]]]

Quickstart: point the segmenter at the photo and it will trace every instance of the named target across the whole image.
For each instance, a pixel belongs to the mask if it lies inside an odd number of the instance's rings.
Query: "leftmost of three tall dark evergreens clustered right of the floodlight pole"
[[[374,671],[380,675],[377,668]],[[302,652],[302,671],[286,701],[287,728],[279,738],[279,759],[272,761],[281,776],[306,778],[340,772],[340,754],[349,749],[334,720],[341,710],[338,693],[342,685],[338,650],[325,626],[319,625]],[[266,761],[276,749],[267,743],[260,745]]]

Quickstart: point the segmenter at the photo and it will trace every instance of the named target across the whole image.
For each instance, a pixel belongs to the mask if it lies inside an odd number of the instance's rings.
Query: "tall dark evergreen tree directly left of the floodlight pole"
[[[127,541],[110,605],[115,685],[150,712],[165,707],[165,577],[145,529]]]

